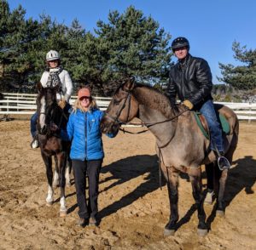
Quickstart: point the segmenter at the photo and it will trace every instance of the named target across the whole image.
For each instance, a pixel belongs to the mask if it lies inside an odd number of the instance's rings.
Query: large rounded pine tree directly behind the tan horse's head
[[[124,14],[113,11],[108,23],[97,22],[102,88],[107,94],[127,77],[144,83],[165,82],[171,59],[170,35],[152,17],[133,6]]]

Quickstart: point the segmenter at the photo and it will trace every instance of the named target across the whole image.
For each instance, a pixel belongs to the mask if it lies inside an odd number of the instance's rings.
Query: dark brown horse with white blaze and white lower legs
[[[46,204],[52,205],[54,202],[54,186],[60,185],[61,188],[61,208],[60,216],[67,214],[65,200],[66,179],[69,182],[69,171],[65,169],[67,166],[68,153],[70,150],[70,142],[61,139],[61,128],[67,123],[67,116],[57,105],[56,93],[59,87],[42,88],[38,84],[37,112],[38,112],[38,141],[41,149],[41,155],[46,167],[48,180],[48,195]],[[53,179],[52,156],[55,159],[55,178]],[[70,167],[71,165],[69,165]]]

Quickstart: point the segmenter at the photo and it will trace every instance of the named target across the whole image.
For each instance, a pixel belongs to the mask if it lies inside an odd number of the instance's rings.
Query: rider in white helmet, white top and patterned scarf
[[[70,107],[69,99],[73,93],[73,82],[68,72],[61,67],[61,57],[60,54],[55,50],[49,50],[46,54],[46,63],[47,69],[44,71],[41,77],[41,84],[43,88],[49,86],[61,86],[61,93],[58,93],[56,98],[58,105],[62,109]],[[31,134],[32,134],[32,143],[31,146],[33,149],[38,148],[38,139],[37,135],[37,118],[38,113],[36,112],[31,118]]]

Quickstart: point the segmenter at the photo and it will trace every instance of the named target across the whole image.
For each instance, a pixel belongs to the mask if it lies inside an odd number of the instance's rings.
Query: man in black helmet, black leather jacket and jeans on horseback
[[[201,111],[207,119],[211,134],[211,149],[218,156],[220,169],[230,168],[230,162],[224,157],[222,130],[212,102],[212,73],[206,60],[189,54],[189,41],[177,37],[172,42],[172,51],[177,64],[170,69],[166,94],[172,103],[176,95],[189,110]],[[208,172],[208,171],[207,171]],[[208,176],[208,192],[212,192],[212,173]]]

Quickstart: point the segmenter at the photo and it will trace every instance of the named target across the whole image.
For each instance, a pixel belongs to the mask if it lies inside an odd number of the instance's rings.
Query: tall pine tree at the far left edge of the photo
[[[20,90],[24,84],[30,82],[29,78],[35,71],[35,57],[41,47],[38,44],[40,25],[38,21],[25,20],[25,14],[26,10],[20,5],[10,12],[8,2],[0,1],[2,89]]]

